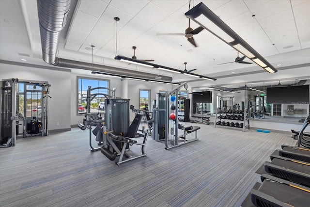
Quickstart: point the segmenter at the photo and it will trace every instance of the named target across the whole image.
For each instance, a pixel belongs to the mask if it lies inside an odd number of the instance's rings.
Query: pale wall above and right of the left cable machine
[[[70,128],[71,74],[68,70],[47,70],[27,66],[0,64],[0,79],[47,81],[52,98],[48,105],[48,129]],[[59,125],[56,125],[59,123]]]

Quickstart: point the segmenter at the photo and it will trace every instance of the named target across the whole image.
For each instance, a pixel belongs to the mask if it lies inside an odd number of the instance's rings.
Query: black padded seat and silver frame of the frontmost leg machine
[[[147,154],[145,153],[144,149],[145,149],[145,144],[146,144],[147,137],[148,137],[148,130],[144,132],[142,143],[138,143],[136,140],[133,139],[133,138],[136,138],[136,134],[137,134],[142,116],[143,116],[142,114],[139,114],[139,113],[136,114],[135,119],[129,126],[125,136],[113,134],[113,132],[107,132],[108,136],[104,136],[104,144],[101,147],[101,153],[104,154],[110,160],[114,160],[116,159],[117,156],[119,156],[119,160],[116,162],[117,165],[120,165],[123,162],[127,162],[127,161],[137,159],[140,157],[146,157]],[[121,149],[119,149],[115,145],[115,142],[122,143]],[[141,151],[142,151],[141,155],[133,156],[125,152],[126,150],[129,151],[129,149],[127,148],[128,145],[134,145],[134,144],[141,146]],[[125,159],[124,159],[124,156],[126,157]]]

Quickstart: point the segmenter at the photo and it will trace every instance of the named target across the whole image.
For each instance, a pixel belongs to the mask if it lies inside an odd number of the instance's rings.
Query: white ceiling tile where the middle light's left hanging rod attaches
[[[120,27],[124,27],[133,17],[132,15],[129,15],[128,13],[116,7],[109,5],[103,15],[100,17],[100,19],[103,19],[115,25],[114,17],[116,16],[120,18],[120,20],[116,22],[117,26]]]

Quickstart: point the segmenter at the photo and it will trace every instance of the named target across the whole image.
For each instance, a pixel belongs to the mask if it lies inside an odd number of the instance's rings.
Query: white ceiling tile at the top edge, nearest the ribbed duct
[[[78,10],[95,17],[100,17],[107,6],[108,3],[101,0],[81,0]]]

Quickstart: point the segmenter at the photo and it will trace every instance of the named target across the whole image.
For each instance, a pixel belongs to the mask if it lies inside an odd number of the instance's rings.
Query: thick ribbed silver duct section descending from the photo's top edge
[[[67,22],[71,0],[37,0],[42,58],[54,64],[60,32]]]

